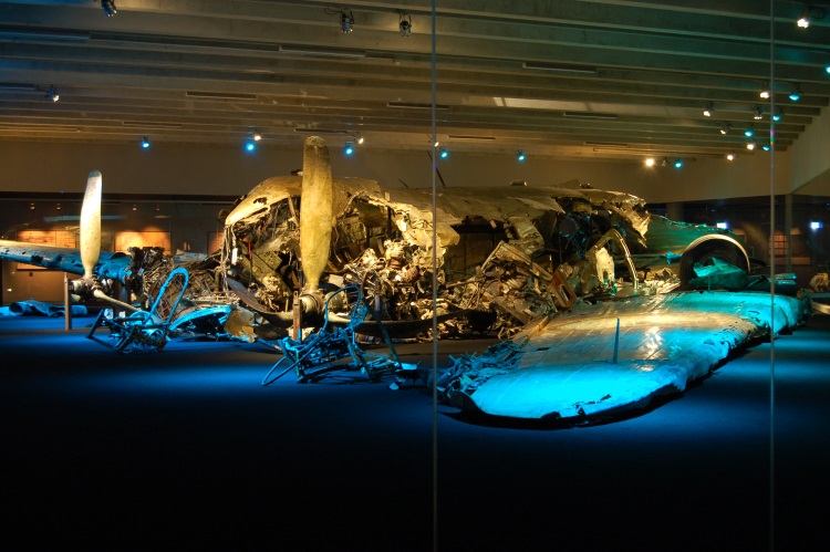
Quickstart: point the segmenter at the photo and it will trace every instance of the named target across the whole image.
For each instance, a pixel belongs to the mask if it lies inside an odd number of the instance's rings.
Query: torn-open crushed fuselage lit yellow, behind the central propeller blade
[[[382,190],[377,183],[357,178],[334,179],[332,189],[333,228],[321,287],[359,285],[384,321],[476,311],[490,319],[455,321],[442,331],[509,333],[567,309],[577,295],[610,293],[616,285],[611,248],[618,248],[629,281],[637,284],[626,242],[644,246],[649,213],[633,196],[593,189],[445,188],[436,197],[433,225],[430,190]],[[226,218],[221,257],[228,260],[229,275],[256,298],[260,313],[262,308],[290,312],[293,292],[302,287],[301,195],[302,177],[271,178]]]

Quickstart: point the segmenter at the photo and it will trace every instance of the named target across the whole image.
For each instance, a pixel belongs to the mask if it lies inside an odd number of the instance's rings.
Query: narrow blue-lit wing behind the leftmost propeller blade
[[[59,270],[71,274],[84,273],[81,252],[77,249],[0,240],[0,259],[33,264],[49,270]],[[101,257],[94,272],[98,278],[120,279],[122,272],[128,265],[128,254],[101,251]]]

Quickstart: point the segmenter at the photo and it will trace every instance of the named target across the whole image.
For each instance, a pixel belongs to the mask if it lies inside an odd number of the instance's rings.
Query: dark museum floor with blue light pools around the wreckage
[[[361,377],[260,382],[250,344],[120,356],[60,319],[0,319],[2,541],[14,550],[434,548],[433,406]],[[449,342],[447,354],[483,348]],[[470,550],[823,550],[830,319],[658,408],[550,429],[437,412],[437,543]],[[430,360],[429,345],[401,347]]]

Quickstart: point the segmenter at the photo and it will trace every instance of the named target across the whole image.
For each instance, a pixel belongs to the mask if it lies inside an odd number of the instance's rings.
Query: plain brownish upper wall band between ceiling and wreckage
[[[357,176],[384,186],[430,186],[427,150],[393,153],[362,147],[353,157],[331,143],[336,176]],[[257,183],[287,175],[302,165],[302,150],[263,144],[249,154],[241,147],[187,146],[156,143],[138,145],[81,145],[0,142],[0,191],[81,191],[92,169],[104,175],[104,192],[230,195],[247,192]],[[792,187],[791,154],[779,153],[777,191]],[[480,156],[458,152],[438,163],[447,186],[500,186],[517,179],[559,185],[578,179],[598,188],[627,191],[649,202],[689,201],[713,197],[755,197],[769,194],[769,155],[738,153],[735,162],[697,158],[682,170],[647,168],[641,159],[618,163],[528,158],[511,155]],[[440,186],[440,184],[439,184]]]

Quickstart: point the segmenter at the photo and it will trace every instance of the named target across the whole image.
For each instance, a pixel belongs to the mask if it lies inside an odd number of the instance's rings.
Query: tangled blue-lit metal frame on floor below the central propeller
[[[353,302],[350,322],[343,327],[330,329],[329,304],[339,294],[351,295]],[[357,285],[346,285],[331,293],[324,305],[323,326],[305,340],[283,337],[280,340],[282,357],[271,367],[262,378],[262,385],[268,386],[293,371],[299,383],[313,382],[322,375],[342,369],[359,369],[373,382],[388,374],[395,374],[398,381],[416,378],[416,366],[402,364],[395,347],[385,331],[375,310],[369,304]],[[355,330],[371,315],[375,324],[381,327],[384,342],[390,354],[371,354],[363,351],[355,340]],[[351,357],[351,363],[339,363],[340,360]],[[283,365],[281,372],[277,372]],[[395,384],[393,384],[395,385]]]

